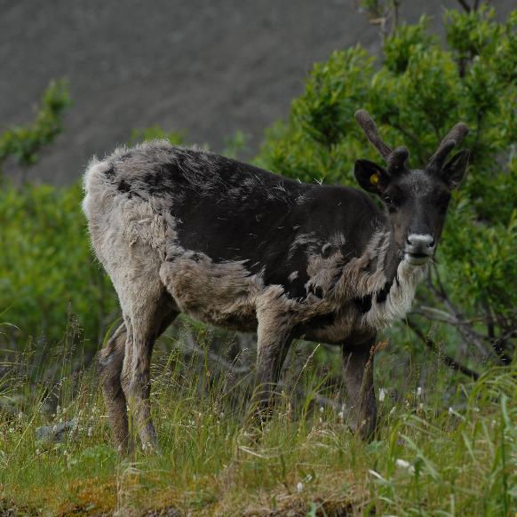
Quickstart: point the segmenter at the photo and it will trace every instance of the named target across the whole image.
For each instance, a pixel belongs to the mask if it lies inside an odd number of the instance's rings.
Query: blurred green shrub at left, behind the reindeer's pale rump
[[[115,317],[114,292],[95,263],[81,211],[82,187],[26,185],[0,188],[0,307],[30,336],[60,341],[68,319],[97,340]]]

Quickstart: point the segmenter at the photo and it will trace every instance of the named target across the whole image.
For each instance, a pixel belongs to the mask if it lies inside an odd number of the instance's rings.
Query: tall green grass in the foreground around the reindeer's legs
[[[12,376],[0,386],[0,509],[513,515],[514,368],[458,383],[447,403],[441,368],[426,389],[410,383],[397,397],[383,390],[378,440],[364,443],[348,431],[340,386],[326,382],[330,370],[306,346],[290,357],[274,414],[259,429],[250,418],[252,375],[242,365],[215,362],[206,335],[197,338],[195,352],[186,352],[181,332],[157,347],[152,396],[161,454],[138,450],[131,460],[111,446],[92,368],[76,373],[63,346],[59,382],[50,386],[24,373],[28,357],[13,357]],[[378,378],[386,364],[381,356]],[[36,440],[36,427],[72,418],[78,422],[66,440]]]

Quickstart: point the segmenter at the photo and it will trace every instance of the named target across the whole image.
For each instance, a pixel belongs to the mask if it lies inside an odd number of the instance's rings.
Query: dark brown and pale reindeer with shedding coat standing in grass
[[[99,353],[115,445],[131,449],[127,404],[144,448],[156,447],[149,364],[179,313],[257,331],[260,407],[271,401],[293,338],[341,347],[356,432],[376,429],[373,352],[378,330],[410,309],[441,235],[468,151],[446,158],[464,123],[422,170],[406,166],[364,110],[355,114],[386,169],[355,163],[359,185],[306,184],[166,141],[91,160],[84,213],[123,323]]]

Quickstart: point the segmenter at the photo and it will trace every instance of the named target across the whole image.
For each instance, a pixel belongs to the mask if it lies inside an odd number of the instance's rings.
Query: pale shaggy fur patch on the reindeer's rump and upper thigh
[[[175,221],[162,198],[123,195],[107,174],[111,167],[110,160],[91,160],[84,175],[83,209],[91,245],[114,284],[123,314],[130,315],[163,291],[159,269],[176,239]]]

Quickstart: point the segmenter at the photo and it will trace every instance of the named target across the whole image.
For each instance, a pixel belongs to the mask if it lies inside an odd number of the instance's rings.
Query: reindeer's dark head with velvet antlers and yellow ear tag
[[[445,162],[453,147],[468,133],[465,123],[457,123],[441,141],[424,169],[410,170],[405,162],[406,147],[387,147],[370,115],[360,109],[355,119],[370,143],[386,160],[386,169],[368,160],[355,162],[355,178],[362,188],[380,197],[386,206],[394,240],[410,264],[422,265],[433,257],[440,239],[450,191],[465,174],[469,152],[460,151]]]

